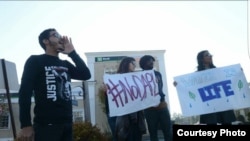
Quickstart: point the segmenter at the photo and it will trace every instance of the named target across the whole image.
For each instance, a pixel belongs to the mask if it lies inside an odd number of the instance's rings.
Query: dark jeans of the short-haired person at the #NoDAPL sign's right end
[[[162,130],[164,140],[173,140],[172,122],[167,107],[161,109],[148,108],[144,110],[145,118],[148,124],[150,141],[159,141],[158,127]]]

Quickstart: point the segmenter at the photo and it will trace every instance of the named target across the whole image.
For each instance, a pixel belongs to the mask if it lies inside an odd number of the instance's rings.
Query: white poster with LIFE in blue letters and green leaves
[[[183,116],[250,107],[250,90],[240,64],[174,77]]]

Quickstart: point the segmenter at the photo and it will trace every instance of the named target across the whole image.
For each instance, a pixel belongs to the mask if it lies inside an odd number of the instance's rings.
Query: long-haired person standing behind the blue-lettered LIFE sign
[[[197,71],[216,68],[208,50],[197,54],[197,63]],[[232,124],[234,121],[236,121],[236,116],[233,110],[200,115],[200,124]]]

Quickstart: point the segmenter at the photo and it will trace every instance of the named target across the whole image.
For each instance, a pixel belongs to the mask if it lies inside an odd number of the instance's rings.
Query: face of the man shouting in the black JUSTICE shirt
[[[64,51],[62,36],[57,31],[51,31],[48,38],[48,45],[54,51]]]

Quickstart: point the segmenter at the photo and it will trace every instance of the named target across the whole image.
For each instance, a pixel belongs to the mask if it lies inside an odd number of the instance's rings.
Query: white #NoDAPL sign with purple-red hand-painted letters
[[[158,84],[153,70],[124,74],[104,74],[108,86],[110,116],[121,116],[157,106]]]

